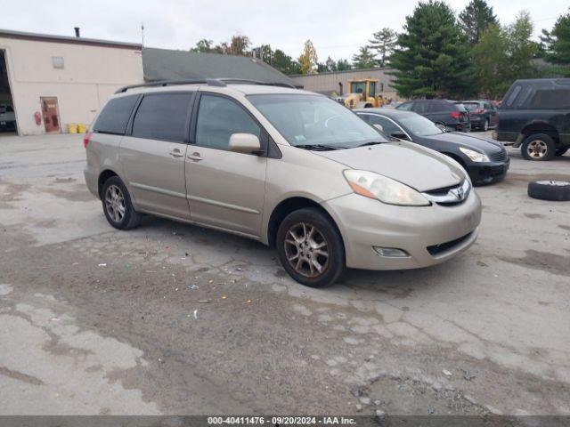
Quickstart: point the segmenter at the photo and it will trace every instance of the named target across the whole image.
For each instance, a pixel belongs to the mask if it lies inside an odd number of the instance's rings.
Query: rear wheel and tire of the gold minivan
[[[134,210],[131,195],[118,176],[111,176],[101,191],[103,213],[111,226],[118,230],[134,229],[142,215]]]

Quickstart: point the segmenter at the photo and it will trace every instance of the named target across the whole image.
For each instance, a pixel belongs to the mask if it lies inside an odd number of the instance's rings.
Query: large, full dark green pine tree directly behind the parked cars
[[[472,50],[450,6],[420,2],[406,17],[392,54],[395,89],[404,97],[463,97],[473,93]]]

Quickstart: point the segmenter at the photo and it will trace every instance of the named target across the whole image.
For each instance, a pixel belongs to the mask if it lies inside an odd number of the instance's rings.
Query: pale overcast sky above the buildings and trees
[[[0,0],[0,28],[60,36],[81,36],[141,43],[165,49],[190,49],[199,39],[215,43],[233,35],[254,45],[271,44],[294,58],[306,39],[319,60],[351,59],[374,31],[403,28],[417,0]],[[460,12],[468,0],[447,0]],[[568,0],[487,0],[502,24],[526,10],[534,36],[552,28],[570,7]]]

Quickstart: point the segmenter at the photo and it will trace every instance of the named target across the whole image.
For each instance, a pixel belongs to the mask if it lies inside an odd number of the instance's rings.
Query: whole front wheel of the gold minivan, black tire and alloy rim
[[[345,270],[345,247],[334,222],[314,207],[289,214],[277,231],[277,252],[291,278],[311,287],[332,285]]]

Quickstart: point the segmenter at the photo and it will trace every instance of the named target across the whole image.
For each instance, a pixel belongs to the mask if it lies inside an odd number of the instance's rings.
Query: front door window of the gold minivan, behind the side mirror
[[[237,102],[203,94],[196,122],[196,145],[229,149],[232,133],[253,133],[259,137],[261,128]]]

